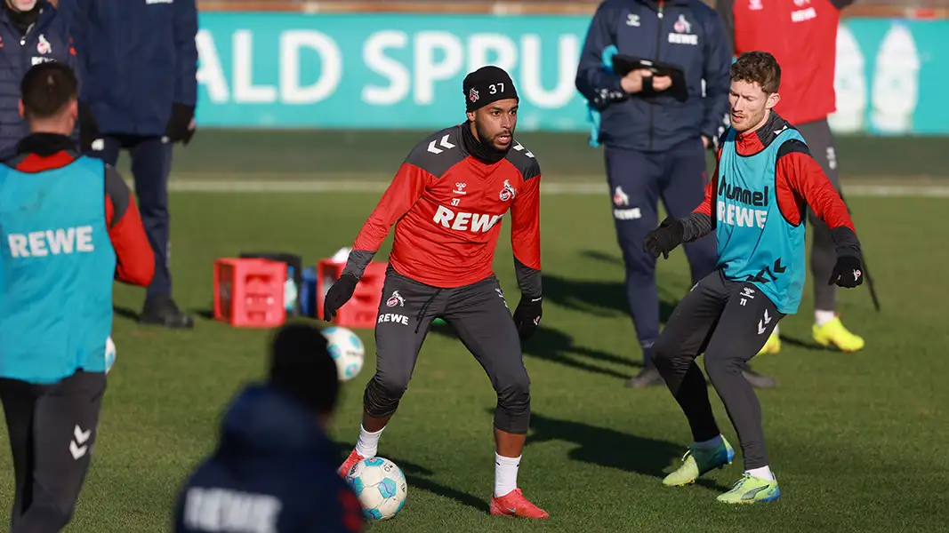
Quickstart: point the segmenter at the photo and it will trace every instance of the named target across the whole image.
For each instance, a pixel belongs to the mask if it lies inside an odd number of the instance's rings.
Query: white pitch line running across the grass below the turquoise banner
[[[339,180],[259,180],[259,179],[172,179],[173,193],[381,193],[387,181]],[[129,182],[129,186],[132,183]],[[541,193],[559,195],[606,194],[605,183],[545,183]],[[849,183],[847,197],[947,198],[949,185],[871,185]]]

